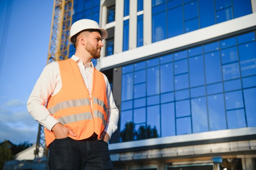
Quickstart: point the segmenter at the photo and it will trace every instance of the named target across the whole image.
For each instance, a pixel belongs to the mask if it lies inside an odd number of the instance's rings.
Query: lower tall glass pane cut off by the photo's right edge
[[[245,111],[248,127],[256,126],[256,88],[244,90]]]

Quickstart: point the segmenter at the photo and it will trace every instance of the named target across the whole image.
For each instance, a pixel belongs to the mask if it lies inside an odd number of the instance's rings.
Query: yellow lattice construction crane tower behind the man
[[[52,26],[47,56],[47,64],[65,60],[69,55],[69,30],[72,25],[73,0],[54,0]],[[39,148],[43,148],[40,149]],[[43,126],[39,124],[35,158],[48,157]]]

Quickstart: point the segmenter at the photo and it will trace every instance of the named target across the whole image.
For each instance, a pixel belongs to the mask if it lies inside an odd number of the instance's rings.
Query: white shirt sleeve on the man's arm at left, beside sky
[[[43,69],[27,101],[28,112],[47,130],[52,130],[52,127],[59,122],[45,107],[47,99],[54,92],[56,78],[60,74],[58,70],[57,62],[48,64]]]

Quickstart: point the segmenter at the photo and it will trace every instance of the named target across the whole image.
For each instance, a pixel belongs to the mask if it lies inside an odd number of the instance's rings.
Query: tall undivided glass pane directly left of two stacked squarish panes
[[[205,54],[205,73],[206,73],[206,83],[215,83],[222,81],[221,78],[221,66],[220,66],[220,53],[219,51]]]

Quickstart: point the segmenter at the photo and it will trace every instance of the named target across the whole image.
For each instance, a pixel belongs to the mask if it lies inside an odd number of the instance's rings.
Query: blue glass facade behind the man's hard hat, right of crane
[[[100,0],[74,0],[74,15],[72,23],[81,19],[90,19],[99,23]],[[76,49],[70,45],[70,56],[75,54]],[[92,59],[93,65],[97,65],[97,60]]]

